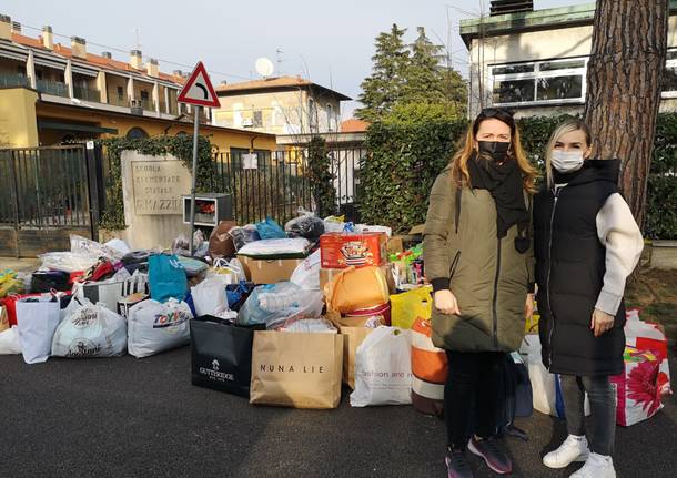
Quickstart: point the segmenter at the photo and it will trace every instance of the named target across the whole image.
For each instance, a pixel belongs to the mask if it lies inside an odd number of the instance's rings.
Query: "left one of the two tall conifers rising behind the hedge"
[[[404,33],[406,29],[393,23],[390,32],[376,37],[372,74],[362,82],[358,98],[364,106],[355,110],[355,115],[361,120],[375,121],[400,100],[410,60],[410,51],[403,41]]]

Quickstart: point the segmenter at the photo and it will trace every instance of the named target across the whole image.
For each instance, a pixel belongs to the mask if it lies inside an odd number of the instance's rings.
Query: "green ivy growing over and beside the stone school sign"
[[[109,171],[105,184],[105,210],[100,226],[107,230],[127,228],[124,223],[124,201],[122,196],[121,154],[124,150],[138,151],[141,154],[161,156],[171,154],[183,161],[189,171],[193,170],[193,136],[152,136],[142,139],[111,138],[100,140],[108,155]],[[198,140],[198,176],[195,190],[209,192],[214,172],[211,144],[204,136]]]

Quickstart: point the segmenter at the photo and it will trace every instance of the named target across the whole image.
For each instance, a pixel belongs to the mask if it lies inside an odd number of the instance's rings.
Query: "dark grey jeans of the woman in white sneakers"
[[[590,401],[590,421],[587,439],[590,450],[598,455],[614,452],[616,436],[616,390],[608,376],[577,377],[562,375],[562,395],[569,435],[586,435],[584,399]]]

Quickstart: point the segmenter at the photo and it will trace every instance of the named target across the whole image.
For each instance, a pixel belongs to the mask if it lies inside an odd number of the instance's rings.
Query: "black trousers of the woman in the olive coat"
[[[502,352],[447,350],[448,376],[444,386],[444,417],[448,445],[463,450],[473,434],[489,438],[496,433]]]

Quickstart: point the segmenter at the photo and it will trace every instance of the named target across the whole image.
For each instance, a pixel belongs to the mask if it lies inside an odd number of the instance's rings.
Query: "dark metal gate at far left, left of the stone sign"
[[[82,144],[0,150],[0,255],[69,251],[70,234],[95,237],[93,165]]]

